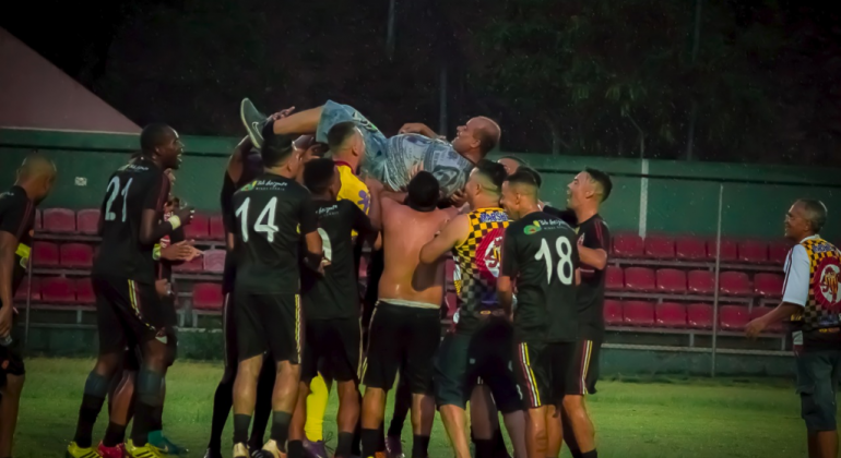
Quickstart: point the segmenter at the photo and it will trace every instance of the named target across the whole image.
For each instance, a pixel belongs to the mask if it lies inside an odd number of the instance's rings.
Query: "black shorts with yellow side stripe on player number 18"
[[[578,394],[576,342],[519,342],[514,346],[514,374],[525,409],[557,403]]]

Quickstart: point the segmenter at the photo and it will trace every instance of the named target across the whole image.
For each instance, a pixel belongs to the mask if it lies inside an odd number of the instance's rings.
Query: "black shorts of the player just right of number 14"
[[[359,382],[362,328],[359,318],[310,320],[306,324],[300,379],[309,384],[319,373],[337,382]]]

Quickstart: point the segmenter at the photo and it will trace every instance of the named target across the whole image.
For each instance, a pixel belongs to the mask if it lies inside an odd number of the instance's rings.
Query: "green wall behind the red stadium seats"
[[[222,171],[238,138],[186,136],[183,140],[187,154],[177,173],[175,192],[199,209],[215,212]],[[55,192],[43,205],[97,207],[108,176],[125,164],[137,145],[137,135],[0,129],[0,186],[9,186],[23,157],[32,149],[39,149],[56,160],[60,173]],[[602,214],[615,231],[641,229],[643,202],[647,233],[714,234],[719,190],[723,185],[722,231],[726,236],[779,238],[791,203],[797,197],[816,197],[830,208],[824,236],[841,241],[841,224],[833,213],[834,208],[841,208],[841,188],[831,188],[841,186],[839,169],[521,156],[544,173],[542,197],[556,205],[565,202],[567,183],[583,167],[597,167],[612,173],[614,190]],[[648,179],[640,177],[645,168]],[[78,185],[76,178],[86,179],[86,185]],[[761,183],[769,181],[789,184]]]

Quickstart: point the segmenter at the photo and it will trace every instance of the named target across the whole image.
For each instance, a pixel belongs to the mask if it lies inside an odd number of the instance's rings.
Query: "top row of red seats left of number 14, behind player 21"
[[[95,236],[99,222],[99,210],[87,208],[73,212],[69,208],[47,208],[35,214],[35,229],[52,233],[82,233]],[[220,215],[197,213],[190,225],[185,226],[188,239],[224,240],[225,227]]]

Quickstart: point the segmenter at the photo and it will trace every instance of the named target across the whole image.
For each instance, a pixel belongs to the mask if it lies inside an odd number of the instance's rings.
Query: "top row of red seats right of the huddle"
[[[731,239],[721,241],[723,262],[750,264],[783,264],[791,243],[761,240]],[[712,261],[715,260],[715,241],[682,236],[648,236],[644,240],[633,233],[617,233],[613,239],[613,254],[617,257],[650,257],[654,260]]]

